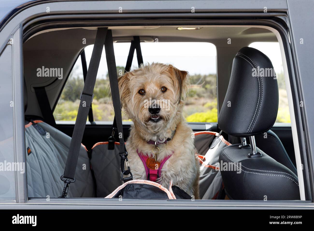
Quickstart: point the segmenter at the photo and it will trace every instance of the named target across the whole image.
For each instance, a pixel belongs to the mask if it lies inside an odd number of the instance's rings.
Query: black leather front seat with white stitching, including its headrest
[[[225,133],[244,138],[242,144],[224,148],[219,156],[221,176],[230,199],[300,200],[295,173],[271,157],[277,150],[270,148],[268,155],[255,146],[254,136],[269,131],[278,112],[277,79],[258,73],[268,68],[273,69],[269,58],[251,47],[243,47],[233,60],[218,118],[219,128]],[[246,145],[245,138],[249,138],[251,145]]]

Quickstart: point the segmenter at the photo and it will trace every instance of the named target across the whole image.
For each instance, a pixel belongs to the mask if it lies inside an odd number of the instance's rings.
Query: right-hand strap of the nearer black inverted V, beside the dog
[[[105,51],[106,51],[110,88],[111,88],[112,103],[113,103],[113,108],[115,111],[116,125],[117,125],[117,130],[119,133],[119,140],[120,140],[119,155],[121,157],[121,162],[120,162],[120,167],[121,167],[121,172],[122,172],[121,180],[123,180],[123,182],[127,182],[133,179],[133,175],[131,173],[131,169],[128,164],[127,150],[124,145],[121,102],[120,102],[120,94],[119,94],[119,86],[118,86],[118,75],[117,75],[117,69],[116,69],[115,53],[113,50],[111,30],[108,30],[107,32],[106,41],[105,41]],[[124,164],[126,164],[127,169],[125,169]],[[129,174],[130,174],[129,177],[124,177]]]

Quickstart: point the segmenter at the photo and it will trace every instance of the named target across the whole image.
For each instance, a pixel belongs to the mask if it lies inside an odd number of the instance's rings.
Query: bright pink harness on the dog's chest
[[[148,180],[150,181],[154,181],[156,182],[156,180],[160,177],[160,171],[162,169],[162,166],[164,165],[164,163],[169,159],[170,156],[165,157],[160,163],[159,162],[155,162],[154,159],[149,158],[148,156],[144,156],[142,152],[138,152],[138,150],[136,150],[138,153],[138,156],[141,158],[145,171],[146,171],[146,177]],[[173,152],[172,152],[173,153]],[[157,164],[157,166],[156,166]],[[156,169],[156,167],[158,167]]]

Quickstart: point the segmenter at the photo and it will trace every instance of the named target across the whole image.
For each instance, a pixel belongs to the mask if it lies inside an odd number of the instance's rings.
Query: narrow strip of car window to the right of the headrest
[[[282,59],[280,53],[280,47],[278,42],[253,42],[249,47],[256,48],[268,56],[270,61],[273,63],[275,69],[278,88],[279,88],[279,105],[277,114],[277,123],[291,123],[288,97],[286,84],[284,81],[284,69],[282,66]]]

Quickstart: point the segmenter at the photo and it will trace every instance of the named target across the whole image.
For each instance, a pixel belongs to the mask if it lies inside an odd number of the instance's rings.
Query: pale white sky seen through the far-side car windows
[[[125,66],[131,43],[114,43],[117,66]],[[254,42],[250,45],[268,56],[276,73],[283,71],[281,53],[278,42]],[[87,66],[89,65],[93,45],[85,48]],[[141,43],[143,61],[145,63],[160,62],[172,64],[180,70],[193,74],[216,74],[216,47],[207,42],[146,42]],[[75,66],[81,73],[81,60]],[[132,69],[137,68],[136,52],[134,52]],[[102,52],[97,78],[107,74],[105,50]]]

